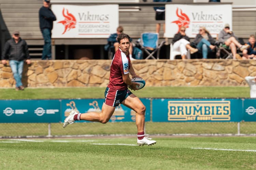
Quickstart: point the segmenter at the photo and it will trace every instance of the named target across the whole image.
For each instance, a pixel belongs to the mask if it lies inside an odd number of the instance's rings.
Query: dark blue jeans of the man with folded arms
[[[52,40],[51,40],[51,30],[45,28],[42,30],[42,34],[44,37],[44,49],[42,54],[42,60],[51,60],[52,59]]]

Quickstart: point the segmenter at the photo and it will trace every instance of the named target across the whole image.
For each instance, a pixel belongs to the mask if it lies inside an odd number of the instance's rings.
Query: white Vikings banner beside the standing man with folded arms
[[[108,38],[119,24],[116,5],[52,5],[53,38]]]

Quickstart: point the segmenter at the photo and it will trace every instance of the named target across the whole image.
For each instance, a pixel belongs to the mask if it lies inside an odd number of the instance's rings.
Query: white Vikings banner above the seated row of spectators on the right
[[[186,35],[194,38],[199,27],[205,27],[212,37],[228,23],[232,30],[231,4],[168,4],[166,6],[166,37],[173,38],[182,26],[186,27]]]

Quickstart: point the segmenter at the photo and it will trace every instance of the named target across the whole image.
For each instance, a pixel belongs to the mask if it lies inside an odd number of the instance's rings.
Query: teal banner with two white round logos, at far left
[[[60,122],[59,100],[1,100],[1,123]]]

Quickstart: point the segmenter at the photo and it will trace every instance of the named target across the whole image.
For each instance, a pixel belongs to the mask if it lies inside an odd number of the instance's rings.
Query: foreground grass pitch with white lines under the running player
[[[256,169],[255,137],[4,139],[0,169]]]

